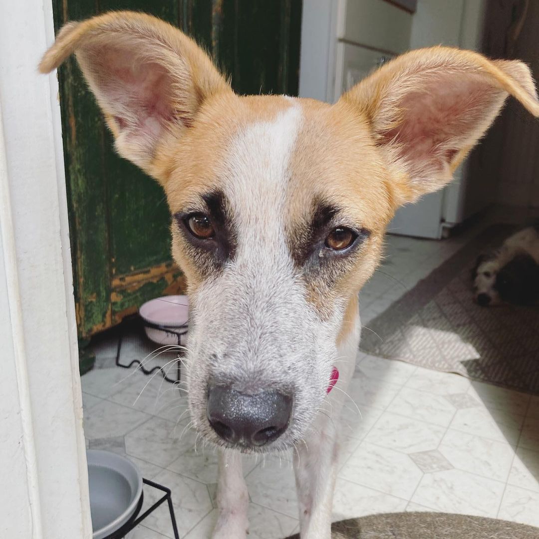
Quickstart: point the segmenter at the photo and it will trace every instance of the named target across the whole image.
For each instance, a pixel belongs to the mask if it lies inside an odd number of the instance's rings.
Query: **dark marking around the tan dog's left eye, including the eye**
[[[236,253],[236,231],[222,191],[202,196],[200,208],[186,209],[174,214],[183,237],[194,248],[199,265],[222,266]]]

